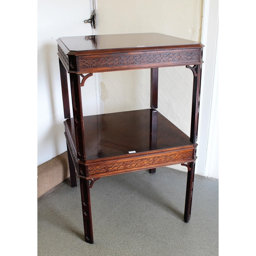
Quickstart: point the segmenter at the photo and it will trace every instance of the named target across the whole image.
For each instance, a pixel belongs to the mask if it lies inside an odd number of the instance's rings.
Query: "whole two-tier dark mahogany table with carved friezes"
[[[80,178],[85,240],[93,243],[90,188],[104,176],[182,164],[187,166],[184,220],[191,212],[197,148],[203,45],[157,33],[57,39],[71,185]],[[190,137],[156,109],[158,68],[186,66],[194,74]],[[83,116],[81,87],[96,72],[151,69],[148,109]],[[70,115],[70,74],[73,117]]]

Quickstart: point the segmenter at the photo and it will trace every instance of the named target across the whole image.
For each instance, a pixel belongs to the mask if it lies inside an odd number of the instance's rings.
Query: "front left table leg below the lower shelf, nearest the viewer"
[[[80,178],[80,188],[81,188],[81,200],[82,200],[84,237],[87,243],[93,244],[93,224],[92,224],[89,180]]]

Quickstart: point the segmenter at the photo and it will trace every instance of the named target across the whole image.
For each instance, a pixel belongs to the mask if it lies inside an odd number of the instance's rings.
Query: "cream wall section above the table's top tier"
[[[157,32],[200,40],[202,0],[97,0],[98,34]]]

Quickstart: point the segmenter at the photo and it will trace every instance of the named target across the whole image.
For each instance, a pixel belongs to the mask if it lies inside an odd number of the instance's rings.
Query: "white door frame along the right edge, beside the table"
[[[214,130],[212,118],[216,118],[215,109],[218,106],[218,87],[216,69],[217,37],[218,37],[218,20],[219,20],[219,3],[218,0],[204,0],[203,20],[202,20],[202,39],[204,47],[203,68],[202,68],[202,86],[200,96],[200,115],[198,131],[198,160],[196,164],[196,173],[202,176],[211,176],[212,163],[211,156],[207,153],[213,153],[212,150],[218,151],[218,148],[212,143],[212,137],[209,137],[210,130]],[[218,89],[218,88],[217,88]],[[217,92],[217,97],[216,97]],[[214,96],[214,97],[213,97]],[[218,116],[217,116],[218,118]],[[211,126],[210,126],[211,125]],[[209,148],[209,146],[211,148]],[[212,154],[212,157],[217,154]],[[210,161],[210,162],[209,162]],[[218,161],[218,157],[217,157]],[[218,170],[217,170],[218,173]]]

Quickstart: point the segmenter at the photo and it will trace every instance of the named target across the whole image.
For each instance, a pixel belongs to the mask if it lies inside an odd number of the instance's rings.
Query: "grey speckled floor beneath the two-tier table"
[[[68,179],[38,199],[38,255],[218,255],[218,186],[195,176],[185,223],[185,172],[163,167],[101,178],[91,189],[94,244],[87,244],[79,179],[74,188]]]

